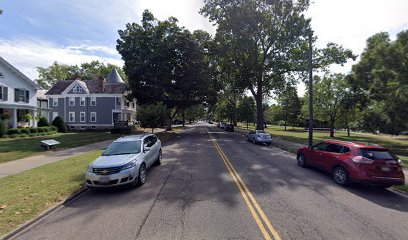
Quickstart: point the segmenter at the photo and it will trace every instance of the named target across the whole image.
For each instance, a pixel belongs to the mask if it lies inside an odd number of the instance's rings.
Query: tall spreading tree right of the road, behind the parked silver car
[[[239,71],[239,83],[254,96],[257,129],[264,128],[263,101],[280,91],[288,75],[306,72],[310,19],[308,0],[205,0],[201,13],[217,24],[219,44],[234,49],[229,55]],[[222,36],[222,37],[221,37]],[[314,52],[316,67],[344,63],[351,51],[337,44]],[[236,81],[237,79],[234,79]]]

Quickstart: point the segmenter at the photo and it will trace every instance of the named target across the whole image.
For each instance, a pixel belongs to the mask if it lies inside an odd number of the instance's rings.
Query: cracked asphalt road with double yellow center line
[[[408,239],[406,196],[337,186],[242,134],[197,125],[163,157],[142,187],[88,191],[14,239]]]

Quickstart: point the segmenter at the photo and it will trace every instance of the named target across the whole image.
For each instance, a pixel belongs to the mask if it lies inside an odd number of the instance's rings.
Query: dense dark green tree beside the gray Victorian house
[[[142,104],[163,102],[168,126],[178,109],[207,100],[210,86],[203,31],[191,33],[174,17],[157,20],[143,12],[141,24],[119,30],[117,50],[125,61],[132,96]]]

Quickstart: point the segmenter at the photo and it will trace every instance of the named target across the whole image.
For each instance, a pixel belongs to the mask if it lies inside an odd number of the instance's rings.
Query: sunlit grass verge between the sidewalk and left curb
[[[178,134],[160,132],[156,135],[165,143]],[[0,236],[78,191],[84,185],[88,164],[101,152],[92,151],[0,178]]]

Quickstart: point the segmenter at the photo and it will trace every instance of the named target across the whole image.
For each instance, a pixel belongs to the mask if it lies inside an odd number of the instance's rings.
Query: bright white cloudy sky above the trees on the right
[[[314,0],[307,16],[318,37],[316,46],[335,42],[361,54],[366,40],[379,32],[392,37],[408,28],[406,0]],[[352,62],[333,71],[349,72]]]

